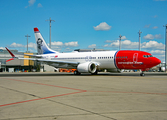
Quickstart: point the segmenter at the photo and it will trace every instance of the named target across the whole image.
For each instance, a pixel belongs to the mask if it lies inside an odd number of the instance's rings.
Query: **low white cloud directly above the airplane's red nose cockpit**
[[[142,43],[141,48],[164,50],[165,49],[165,45],[162,44],[162,43],[158,43],[157,41],[149,41],[149,42]]]

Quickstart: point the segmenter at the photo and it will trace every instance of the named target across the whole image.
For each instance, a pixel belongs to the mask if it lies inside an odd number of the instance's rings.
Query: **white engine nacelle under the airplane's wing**
[[[77,66],[77,70],[80,73],[95,73],[96,65],[92,62],[81,63]]]

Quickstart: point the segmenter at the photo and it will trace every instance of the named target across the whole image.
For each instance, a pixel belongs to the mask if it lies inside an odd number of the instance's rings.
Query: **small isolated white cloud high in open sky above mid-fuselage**
[[[109,26],[106,22],[102,22],[99,25],[97,25],[96,27],[93,26],[93,28],[97,31],[102,30],[102,31],[107,31],[110,30],[112,26]]]

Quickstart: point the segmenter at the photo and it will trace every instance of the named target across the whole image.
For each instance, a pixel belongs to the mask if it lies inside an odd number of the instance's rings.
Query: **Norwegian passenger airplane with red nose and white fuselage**
[[[8,49],[12,59],[28,59],[39,61],[55,68],[76,69],[75,75],[81,73],[98,74],[99,71],[120,72],[121,69],[136,70],[142,72],[140,76],[145,76],[144,71],[158,65],[161,61],[153,57],[150,53],[137,50],[119,51],[92,51],[92,52],[71,52],[59,53],[50,49],[43,39],[38,28],[34,28],[37,43],[37,55],[27,55],[34,58],[17,58]]]

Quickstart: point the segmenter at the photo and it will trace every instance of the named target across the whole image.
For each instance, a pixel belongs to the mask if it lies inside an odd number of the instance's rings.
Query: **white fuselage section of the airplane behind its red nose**
[[[99,69],[103,68],[116,68],[115,67],[115,53],[116,51],[98,51],[98,52],[72,52],[72,53],[57,53],[57,54],[43,54],[42,57],[48,60],[58,60],[67,62],[93,62],[98,64]],[[70,65],[65,64],[54,64],[51,66],[57,68],[74,68]]]

